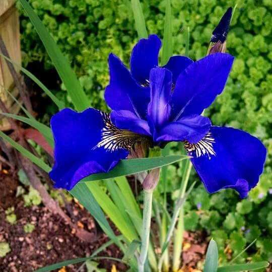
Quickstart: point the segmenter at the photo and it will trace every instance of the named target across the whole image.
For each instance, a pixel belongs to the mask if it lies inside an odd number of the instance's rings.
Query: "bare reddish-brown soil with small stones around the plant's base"
[[[97,230],[90,214],[76,202],[71,202],[75,222],[78,226],[97,234],[97,240],[93,243],[77,238],[59,216],[48,211],[43,205],[24,207],[23,198],[16,197],[18,185],[16,175],[0,173],[0,242],[8,242],[11,247],[11,252],[0,258],[1,272],[30,272],[63,260],[89,256],[108,240],[106,235]],[[6,221],[5,214],[5,210],[12,206],[15,207],[17,216],[14,225]],[[24,232],[24,225],[27,223],[35,225],[34,231],[30,234]],[[195,267],[197,262],[203,259],[206,246],[206,239],[201,233],[185,233],[182,259],[187,268],[183,268],[184,272],[199,271]],[[122,258],[122,253],[114,245],[100,255]],[[111,271],[113,265],[117,271],[127,270],[123,263],[111,260],[100,259],[98,263],[99,267],[107,271]],[[81,264],[69,265],[58,271],[78,272]],[[80,271],[86,271],[86,268],[81,267]]]

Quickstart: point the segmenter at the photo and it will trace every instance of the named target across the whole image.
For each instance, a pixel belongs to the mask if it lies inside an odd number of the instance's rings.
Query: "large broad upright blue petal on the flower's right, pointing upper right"
[[[215,53],[190,64],[178,77],[172,96],[171,119],[201,114],[221,94],[234,57]]]

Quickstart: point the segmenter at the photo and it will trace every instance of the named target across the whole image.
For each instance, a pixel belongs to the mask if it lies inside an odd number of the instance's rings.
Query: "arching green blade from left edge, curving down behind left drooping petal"
[[[39,130],[43,137],[46,139],[46,141],[49,143],[49,145],[51,147],[54,147],[54,139],[53,139],[53,135],[52,135],[52,130],[50,127],[48,127],[47,125],[33,119],[30,119],[28,117],[24,117],[24,116],[20,116],[20,115],[16,115],[16,114],[11,114],[11,113],[5,113],[5,112],[0,112],[0,114],[19,120],[21,122],[24,122],[26,124],[31,125],[32,127],[36,128],[37,130]]]

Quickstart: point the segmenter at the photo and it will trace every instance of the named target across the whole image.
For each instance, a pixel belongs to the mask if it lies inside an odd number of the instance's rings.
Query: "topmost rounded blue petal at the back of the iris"
[[[137,82],[148,83],[151,69],[158,66],[161,45],[160,38],[153,34],[148,39],[141,39],[133,47],[130,58],[130,72]]]

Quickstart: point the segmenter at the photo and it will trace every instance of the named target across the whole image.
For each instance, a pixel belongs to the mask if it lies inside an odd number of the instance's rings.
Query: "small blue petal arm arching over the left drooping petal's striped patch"
[[[138,134],[150,136],[148,122],[139,118],[137,115],[128,110],[113,110],[110,114],[112,122],[119,129],[128,129]]]

